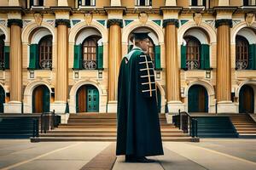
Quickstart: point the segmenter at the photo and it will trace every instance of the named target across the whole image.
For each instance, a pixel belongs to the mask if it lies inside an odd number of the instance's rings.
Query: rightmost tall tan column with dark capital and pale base
[[[231,101],[231,58],[230,58],[230,27],[231,19],[216,20],[218,29],[217,42],[217,101],[218,113],[236,112]]]

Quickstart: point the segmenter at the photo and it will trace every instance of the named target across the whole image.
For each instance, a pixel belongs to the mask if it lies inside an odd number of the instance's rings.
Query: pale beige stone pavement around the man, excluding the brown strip
[[[81,169],[111,144],[113,143],[30,143],[28,139],[1,139],[0,170]],[[118,156],[113,170],[256,170],[256,139],[201,139],[200,143],[164,142],[164,150],[164,156],[153,156],[151,158],[157,161],[148,164],[126,163],[124,156]]]

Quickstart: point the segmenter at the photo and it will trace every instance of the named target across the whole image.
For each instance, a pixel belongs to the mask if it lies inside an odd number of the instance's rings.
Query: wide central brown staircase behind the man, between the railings
[[[67,124],[40,133],[39,138],[32,138],[31,141],[116,141],[116,122],[115,113],[70,114]],[[199,141],[172,124],[167,124],[165,115],[160,115],[160,126],[163,141]]]

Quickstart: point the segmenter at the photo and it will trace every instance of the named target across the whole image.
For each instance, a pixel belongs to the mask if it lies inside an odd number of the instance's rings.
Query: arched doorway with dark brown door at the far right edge
[[[254,112],[254,92],[253,88],[244,85],[239,92],[239,113]]]

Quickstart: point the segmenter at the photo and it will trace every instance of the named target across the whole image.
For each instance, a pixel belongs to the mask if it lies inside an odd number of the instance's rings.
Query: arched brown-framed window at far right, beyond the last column
[[[241,36],[236,37],[236,69],[247,69],[249,64],[249,43],[247,39]]]

